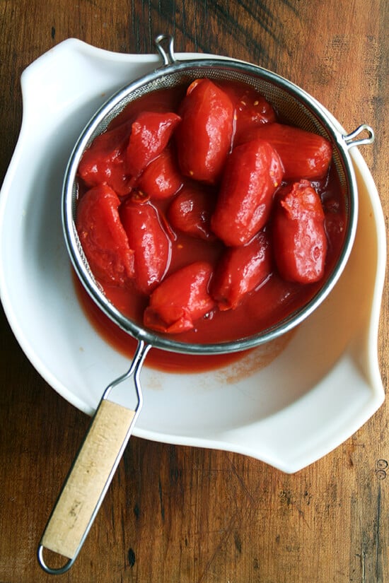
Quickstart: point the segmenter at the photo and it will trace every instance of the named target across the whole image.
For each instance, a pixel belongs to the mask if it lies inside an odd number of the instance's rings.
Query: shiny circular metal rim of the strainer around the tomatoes
[[[93,139],[93,134],[95,133],[96,128],[102,124],[103,120],[108,118],[110,112],[112,112],[112,109],[121,104],[127,95],[129,95],[129,93],[133,93],[139,88],[149,85],[149,83],[153,81],[161,81],[162,84],[164,79],[168,78],[168,76],[170,76],[172,73],[177,73],[178,71],[187,72],[190,71],[190,69],[202,69],[204,71],[208,69],[209,71],[213,68],[226,69],[227,71],[240,71],[255,77],[259,76],[260,78],[265,78],[266,81],[275,83],[282,90],[289,93],[291,98],[303,102],[308,110],[315,114],[320,124],[325,127],[326,131],[330,135],[332,144],[335,146],[335,148],[337,148],[339,158],[342,162],[347,181],[347,187],[350,193],[348,199],[349,221],[347,225],[347,232],[344,236],[342,251],[339,255],[339,259],[337,260],[335,268],[332,269],[330,276],[327,278],[327,281],[325,281],[323,286],[301,309],[296,310],[296,312],[293,312],[292,314],[289,314],[286,319],[282,320],[278,324],[274,324],[274,326],[271,326],[258,334],[253,334],[252,336],[221,343],[188,343],[185,341],[179,341],[176,338],[164,336],[162,334],[156,334],[153,331],[144,328],[143,326],[137,324],[137,322],[134,322],[132,319],[125,317],[124,314],[117,310],[117,308],[112,305],[112,303],[105,297],[103,290],[100,288],[100,285],[98,285],[98,283],[93,278],[93,275],[86,267],[86,259],[83,259],[82,257],[81,245],[79,244],[74,223],[74,185],[76,184],[76,172],[79,166],[81,155],[85,148],[88,146],[88,143],[90,143],[90,141]],[[205,73],[204,76],[206,76]],[[273,73],[272,71],[268,71],[267,69],[263,69],[262,67],[254,64],[245,63],[244,61],[238,61],[236,59],[224,59],[223,57],[215,57],[212,59],[189,59],[173,61],[170,64],[165,64],[160,68],[155,69],[151,73],[148,73],[145,76],[132,81],[117,91],[117,93],[112,95],[112,97],[107,102],[105,102],[102,107],[100,107],[90,122],[88,122],[86,127],[83,129],[79,140],[76,142],[74,150],[71,153],[69,163],[66,167],[64,186],[62,191],[62,225],[66,247],[68,249],[69,257],[71,258],[71,262],[74,266],[76,274],[83,284],[83,287],[91,296],[92,300],[98,305],[98,307],[100,307],[100,310],[103,310],[105,315],[107,315],[112,320],[112,322],[115,322],[115,324],[120,326],[120,328],[122,328],[128,334],[134,338],[137,338],[138,341],[144,341],[145,343],[150,344],[156,348],[178,353],[218,354],[243,351],[272,341],[275,338],[286,334],[286,332],[290,331],[291,329],[294,329],[294,327],[298,326],[298,324],[301,324],[301,322],[303,322],[303,320],[306,319],[306,317],[308,317],[323,302],[323,300],[325,300],[325,298],[327,298],[327,295],[330,294],[331,290],[337,283],[344,269],[344,266],[347,264],[347,260],[349,258],[349,254],[354,242],[358,213],[356,179],[348,148],[349,146],[344,140],[344,136],[342,136],[339,130],[335,127],[320,104],[308,93],[306,93],[306,91],[296,86],[291,81],[288,81],[285,78],[277,75],[277,73]]]

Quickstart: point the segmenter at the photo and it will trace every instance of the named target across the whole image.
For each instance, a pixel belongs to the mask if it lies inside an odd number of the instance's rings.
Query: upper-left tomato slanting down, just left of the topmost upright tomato
[[[143,112],[132,124],[127,147],[127,167],[139,177],[147,165],[168,145],[180,117],[173,112]]]

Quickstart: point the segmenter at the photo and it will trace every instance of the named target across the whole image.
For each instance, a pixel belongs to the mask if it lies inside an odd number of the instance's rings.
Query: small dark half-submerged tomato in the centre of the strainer
[[[211,232],[211,215],[214,212],[216,196],[207,187],[199,184],[185,184],[168,210],[168,219],[173,228],[192,237],[214,240]]]

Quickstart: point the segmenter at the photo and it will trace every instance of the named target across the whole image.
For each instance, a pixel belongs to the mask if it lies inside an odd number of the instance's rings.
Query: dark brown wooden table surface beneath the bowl
[[[21,126],[23,69],[77,37],[115,52],[245,59],[293,80],[349,131],[376,129],[363,154],[388,221],[386,0],[2,0],[0,177]],[[361,266],[363,270],[363,266]],[[28,293],[28,282],[26,293]],[[388,383],[388,287],[378,338]],[[54,325],[54,324],[53,324]],[[0,583],[52,579],[36,547],[88,425],[34,370],[1,314]],[[71,571],[77,583],[389,581],[388,405],[347,442],[287,475],[240,454],[132,438]]]

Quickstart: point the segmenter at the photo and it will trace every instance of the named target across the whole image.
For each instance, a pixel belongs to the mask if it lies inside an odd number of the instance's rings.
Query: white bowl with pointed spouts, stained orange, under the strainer
[[[36,370],[88,414],[129,361],[95,333],[76,298],[62,235],[62,180],[95,110],[159,64],[156,54],[117,54],[69,39],[21,79],[23,123],[0,196],[1,301]],[[376,344],[385,225],[368,167],[356,148],[351,155],[359,223],[351,257],[327,300],[265,367],[258,364],[267,358],[263,347],[198,374],[159,372],[146,358],[134,435],[240,452],[294,472],[344,442],[382,404]],[[117,399],[125,405],[131,396],[123,389]]]

